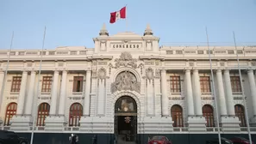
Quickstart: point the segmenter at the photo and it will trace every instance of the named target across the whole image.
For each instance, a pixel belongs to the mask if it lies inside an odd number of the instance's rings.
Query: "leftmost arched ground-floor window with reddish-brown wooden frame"
[[[9,126],[9,120],[16,115],[16,111],[17,111],[17,104],[16,103],[9,103],[9,105],[7,105],[6,108],[6,112],[5,112],[5,119],[4,119],[4,125]]]

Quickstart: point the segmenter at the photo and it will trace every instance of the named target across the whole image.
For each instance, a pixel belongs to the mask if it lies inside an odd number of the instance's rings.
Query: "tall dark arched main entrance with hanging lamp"
[[[116,100],[115,135],[117,144],[132,144],[136,141],[137,104],[129,96],[122,96]]]

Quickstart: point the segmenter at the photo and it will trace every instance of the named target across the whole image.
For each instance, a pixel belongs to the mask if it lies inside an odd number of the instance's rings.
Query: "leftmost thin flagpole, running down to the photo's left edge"
[[[7,71],[9,69],[9,57],[10,57],[10,51],[12,49],[12,43],[13,43],[13,38],[14,38],[14,31],[12,32],[12,35],[11,35],[11,40],[10,40],[10,45],[9,45],[9,55],[8,55],[8,58],[7,58],[7,64],[6,64],[6,68],[5,68],[5,71],[4,71],[4,75],[3,75],[3,85],[2,85],[2,88],[1,88],[1,95],[0,95],[0,111],[1,111],[1,108],[2,108],[2,100],[3,100],[3,92],[4,92],[4,87],[5,87],[5,84],[6,84],[6,78],[7,78]]]

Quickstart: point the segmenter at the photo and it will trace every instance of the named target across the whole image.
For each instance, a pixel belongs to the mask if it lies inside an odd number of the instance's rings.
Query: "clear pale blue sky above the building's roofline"
[[[0,0],[0,49],[94,47],[106,23],[109,34],[126,31],[126,21],[109,24],[109,13],[127,5],[128,31],[143,34],[147,23],[159,45],[256,45],[256,0]]]

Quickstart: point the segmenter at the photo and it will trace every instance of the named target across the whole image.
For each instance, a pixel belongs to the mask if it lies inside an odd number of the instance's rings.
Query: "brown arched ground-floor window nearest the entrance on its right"
[[[172,105],[171,108],[173,127],[183,127],[183,112],[180,105]]]

